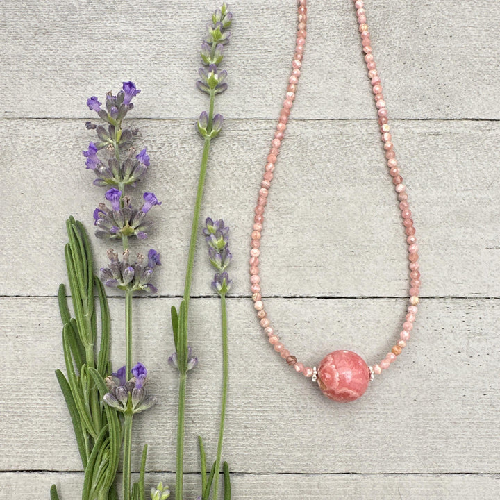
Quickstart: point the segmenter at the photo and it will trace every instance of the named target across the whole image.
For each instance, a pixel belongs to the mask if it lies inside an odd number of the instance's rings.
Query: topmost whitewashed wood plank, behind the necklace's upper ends
[[[195,117],[199,40],[217,2],[4,0],[3,117],[90,116],[86,97],[133,79],[142,117]],[[227,117],[274,117],[288,80],[295,1],[234,0]],[[400,118],[495,118],[500,42],[494,2],[367,2],[387,103]],[[294,116],[372,118],[351,1],[310,1]],[[113,40],[113,42],[112,42]],[[318,92],[318,90],[320,90]]]

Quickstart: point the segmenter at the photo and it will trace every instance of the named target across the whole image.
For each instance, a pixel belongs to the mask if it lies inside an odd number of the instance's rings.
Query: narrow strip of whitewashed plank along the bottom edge
[[[58,486],[61,500],[70,499],[81,490],[82,474],[40,473],[0,474],[0,494],[12,498],[19,491],[37,492],[36,499],[48,498],[52,484]],[[147,474],[147,485],[165,479],[174,485],[173,474]],[[185,485],[193,492],[199,490],[196,476],[188,475]],[[432,476],[338,474],[315,476],[310,474],[232,474],[231,492],[238,500],[494,500],[500,495],[498,475],[478,476],[464,474],[435,474]],[[195,494],[195,493],[194,493]],[[171,497],[172,498],[172,497]]]

